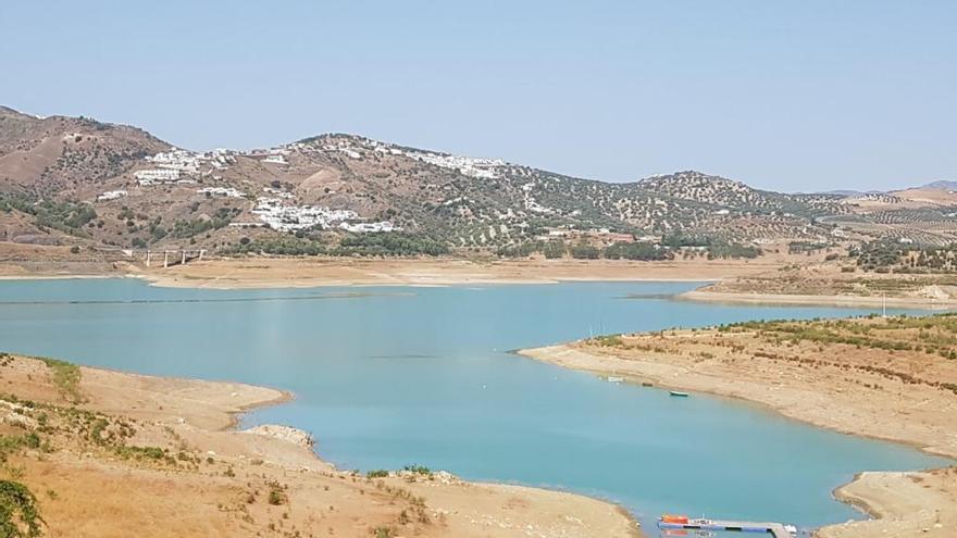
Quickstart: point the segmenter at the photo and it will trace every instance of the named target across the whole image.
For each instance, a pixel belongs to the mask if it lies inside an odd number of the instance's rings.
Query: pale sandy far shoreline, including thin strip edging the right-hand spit
[[[207,289],[272,289],[352,286],[495,286],[567,281],[705,283],[675,299],[730,304],[832,305],[847,308],[957,309],[957,299],[849,293],[761,292],[737,289],[742,278],[769,278],[793,261],[787,255],[758,260],[485,260],[234,258],[192,262],[169,268],[117,263],[108,273],[24,271],[0,264],[0,280],[67,278],[142,278],[152,286]],[[798,259],[803,257],[797,257]],[[765,275],[765,276],[760,276]],[[720,283],[716,286],[707,283]],[[732,291],[726,288],[731,286]],[[716,289],[717,288],[717,289]]]

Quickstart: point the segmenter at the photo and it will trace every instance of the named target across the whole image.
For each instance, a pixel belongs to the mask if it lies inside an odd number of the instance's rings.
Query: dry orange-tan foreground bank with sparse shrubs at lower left
[[[0,434],[33,430],[44,439],[40,449],[10,455],[0,479],[36,493],[46,536],[637,535],[631,518],[606,502],[446,473],[366,478],[320,461],[301,431],[224,429],[238,412],[288,398],[277,390],[84,367],[82,402],[74,403],[50,375],[44,363],[21,356],[0,366],[0,393],[15,397],[0,398]],[[24,406],[24,399],[39,406]],[[49,416],[44,427],[40,412]],[[96,417],[108,426],[94,434]],[[133,456],[135,447],[164,455]]]

